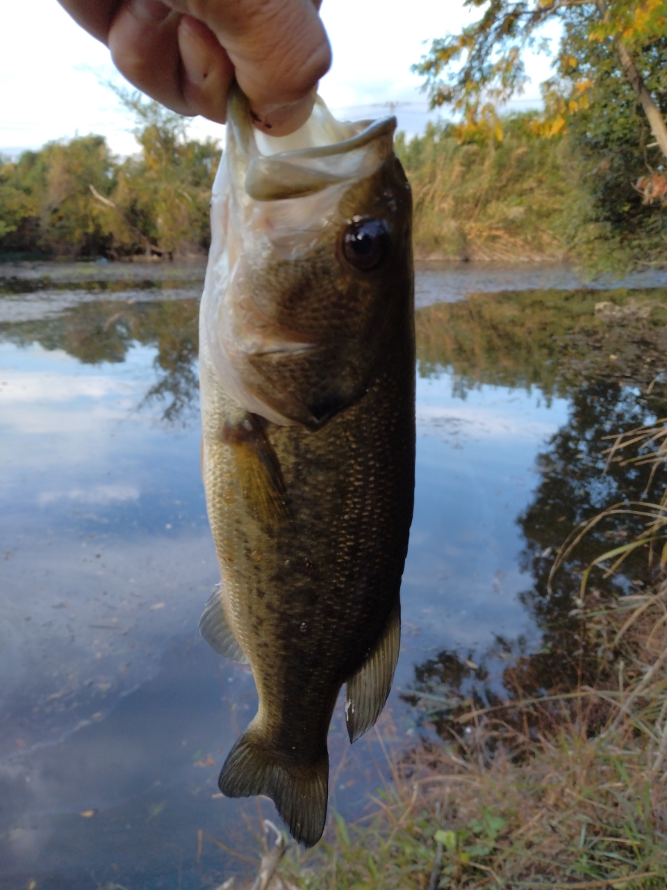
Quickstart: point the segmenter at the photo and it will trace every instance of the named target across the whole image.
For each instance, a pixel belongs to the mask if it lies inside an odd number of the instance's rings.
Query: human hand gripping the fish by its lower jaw
[[[308,120],[331,49],[320,0],[59,0],[107,44],[117,69],[173,111],[225,122],[234,77],[255,125]]]

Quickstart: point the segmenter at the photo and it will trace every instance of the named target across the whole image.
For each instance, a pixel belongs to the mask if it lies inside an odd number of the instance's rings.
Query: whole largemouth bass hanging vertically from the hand
[[[296,841],[325,828],[327,732],[387,700],[414,502],[412,198],[395,117],[317,98],[270,137],[229,97],[199,320],[202,475],[221,584],[199,628],[249,663],[256,716],[226,797],[265,795]]]

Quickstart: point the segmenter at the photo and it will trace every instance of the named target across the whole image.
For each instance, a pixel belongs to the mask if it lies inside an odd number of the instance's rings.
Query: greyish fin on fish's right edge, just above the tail
[[[357,741],[382,713],[394,679],[401,639],[398,596],[374,650],[345,686],[345,719],[350,741]]]

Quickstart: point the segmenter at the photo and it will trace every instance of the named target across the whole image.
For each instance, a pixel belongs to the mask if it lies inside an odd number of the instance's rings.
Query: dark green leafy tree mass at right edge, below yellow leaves
[[[667,206],[648,203],[636,187],[663,157],[631,85],[619,75],[613,47],[586,41],[575,16],[567,42],[577,71],[591,87],[585,108],[571,115],[561,153],[567,182],[563,233],[580,263],[591,271],[623,274],[667,255]],[[663,117],[667,117],[667,36],[647,44],[637,63]]]

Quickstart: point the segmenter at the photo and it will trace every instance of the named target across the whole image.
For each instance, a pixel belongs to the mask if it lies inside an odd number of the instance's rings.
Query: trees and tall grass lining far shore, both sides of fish
[[[482,16],[433,41],[414,69],[452,123],[398,155],[414,189],[418,255],[557,259],[590,271],[667,263],[667,0],[467,0]],[[502,116],[523,55],[562,26],[543,109]],[[140,152],[52,142],[0,166],[0,254],[170,257],[209,243],[221,150],[185,118],[116,90]]]

